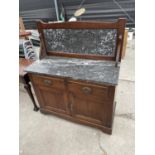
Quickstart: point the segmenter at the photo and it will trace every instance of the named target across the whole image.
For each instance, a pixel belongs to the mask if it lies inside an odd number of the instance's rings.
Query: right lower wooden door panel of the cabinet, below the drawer
[[[106,107],[104,102],[94,102],[89,98],[70,93],[73,116],[96,124],[106,123]]]

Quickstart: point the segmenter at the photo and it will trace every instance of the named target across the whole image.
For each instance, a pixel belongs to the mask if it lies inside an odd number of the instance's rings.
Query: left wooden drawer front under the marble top
[[[34,84],[42,85],[45,87],[52,87],[58,89],[65,89],[64,80],[60,78],[41,76],[41,75],[31,75]]]

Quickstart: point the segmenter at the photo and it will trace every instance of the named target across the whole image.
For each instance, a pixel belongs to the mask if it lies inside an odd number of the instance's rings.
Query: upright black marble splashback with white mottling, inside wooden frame
[[[114,56],[116,29],[44,29],[48,51]]]

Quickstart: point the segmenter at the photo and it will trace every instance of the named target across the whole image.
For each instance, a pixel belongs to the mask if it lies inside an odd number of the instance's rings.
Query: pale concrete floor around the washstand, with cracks
[[[21,155],[134,155],[134,40],[128,41],[116,95],[113,134],[34,112],[20,85]]]

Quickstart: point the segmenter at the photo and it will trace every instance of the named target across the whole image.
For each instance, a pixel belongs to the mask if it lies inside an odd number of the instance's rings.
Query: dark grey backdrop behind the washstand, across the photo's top
[[[125,17],[127,27],[135,27],[135,0],[19,0],[19,16],[23,17],[26,29],[35,29],[37,19],[56,21],[54,1],[59,13],[63,4],[67,19],[84,7],[86,12],[78,20],[113,21]]]

